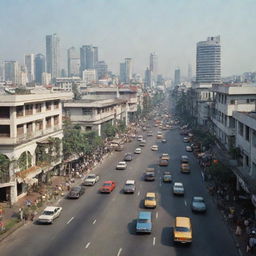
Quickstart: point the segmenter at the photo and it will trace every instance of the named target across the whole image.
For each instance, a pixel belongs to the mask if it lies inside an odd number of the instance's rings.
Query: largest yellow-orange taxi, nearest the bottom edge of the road
[[[192,243],[192,226],[188,217],[176,217],[173,230],[174,242]]]

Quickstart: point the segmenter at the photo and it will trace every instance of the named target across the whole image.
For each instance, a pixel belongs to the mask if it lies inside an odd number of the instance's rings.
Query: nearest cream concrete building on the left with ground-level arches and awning
[[[16,202],[62,161],[62,99],[69,94],[0,96],[0,200]],[[50,153],[51,152],[51,153]]]

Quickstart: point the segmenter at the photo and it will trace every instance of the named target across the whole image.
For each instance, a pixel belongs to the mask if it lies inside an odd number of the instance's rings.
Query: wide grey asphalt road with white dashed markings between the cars
[[[126,170],[115,170],[125,152],[133,152],[138,142],[125,146],[125,151],[115,152],[96,168],[100,181],[87,187],[78,200],[63,199],[59,205],[63,212],[52,225],[28,224],[9,236],[0,244],[1,256],[134,256],[134,255],[189,255],[189,256],[237,256],[237,249],[229,231],[211,197],[208,195],[197,160],[192,153],[185,152],[183,137],[178,130],[166,131],[168,142],[156,139],[157,128],[152,128],[153,137],[147,137],[146,147],[140,155],[128,162]],[[145,133],[146,134],[146,133]],[[157,143],[159,151],[150,147]],[[168,167],[159,167],[159,155],[169,153]],[[191,174],[179,170],[182,154],[189,156]],[[145,182],[143,172],[147,167],[156,167],[157,179]],[[161,182],[162,172],[170,170],[174,181],[181,181],[185,196],[172,194],[172,185]],[[136,180],[133,195],[122,193],[127,179]],[[98,192],[104,180],[117,182],[111,194]],[[150,235],[135,234],[135,220],[143,209],[143,198],[147,192],[157,193],[157,208],[153,214],[153,232]],[[208,211],[205,215],[194,214],[190,209],[191,197],[205,197]],[[193,243],[177,246],[172,242],[172,227],[176,216],[192,219]]]

